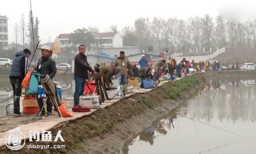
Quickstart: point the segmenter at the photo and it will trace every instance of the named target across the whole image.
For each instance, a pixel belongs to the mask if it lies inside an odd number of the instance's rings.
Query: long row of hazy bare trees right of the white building
[[[124,45],[138,45],[145,51],[148,45],[163,51],[189,52],[210,51],[210,48],[227,47],[231,50],[250,50],[256,47],[256,20],[245,22],[224,20],[221,16],[215,18],[205,14],[194,16],[187,20],[171,17],[168,19],[138,18],[134,25],[122,30]],[[214,51],[214,50],[213,50]]]

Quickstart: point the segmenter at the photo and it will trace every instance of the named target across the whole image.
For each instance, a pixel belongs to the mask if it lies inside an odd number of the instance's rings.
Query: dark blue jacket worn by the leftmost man
[[[15,56],[16,57],[14,58],[11,65],[9,77],[18,77],[23,79],[26,74],[26,53],[24,51],[20,51],[16,53]]]

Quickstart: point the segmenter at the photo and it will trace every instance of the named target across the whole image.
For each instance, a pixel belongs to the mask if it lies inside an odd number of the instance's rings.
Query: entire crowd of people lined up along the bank
[[[52,50],[48,46],[43,46],[40,49],[42,57],[39,59],[37,66],[35,66],[35,70],[40,72],[41,76],[49,76],[53,79],[57,69],[55,61],[51,58]],[[151,64],[143,54],[139,60],[140,67],[138,68],[137,65],[132,65],[129,62],[124,51],[120,51],[120,56],[117,57],[113,65],[100,67],[99,64],[96,64],[94,67],[91,67],[85,55],[86,46],[84,44],[79,45],[78,51],[79,53],[74,58],[74,107],[79,106],[79,97],[84,94],[84,85],[89,79],[89,74],[96,80],[96,84],[99,84],[97,85],[97,92],[106,94],[106,90],[112,89],[111,78],[113,76],[118,76],[121,84],[128,83],[128,78],[131,77],[139,77],[141,80],[147,78],[156,81],[163,75],[182,77],[190,74],[191,69],[194,71],[209,70],[210,66],[208,61],[195,62],[192,60],[190,62],[186,58],[183,58],[182,61],[178,62],[174,57],[169,57],[167,61],[163,59]],[[30,55],[31,52],[28,49],[18,52],[11,66],[9,78],[13,87],[13,115],[15,116],[23,116],[19,109],[19,98],[21,96],[21,83],[27,72],[26,68]],[[213,62],[211,65],[213,66],[213,70],[218,70],[221,64],[219,62]],[[103,96],[101,98],[104,100]],[[51,116],[53,105],[49,100],[46,104],[47,115]],[[38,100],[38,105],[40,110],[42,110],[43,101]],[[41,113],[41,115],[44,114],[44,112]]]

